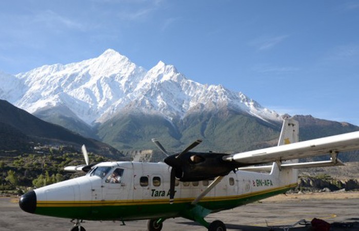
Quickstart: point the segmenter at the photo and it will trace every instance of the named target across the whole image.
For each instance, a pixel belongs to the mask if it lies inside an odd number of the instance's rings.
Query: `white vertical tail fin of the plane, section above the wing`
[[[292,144],[299,141],[299,123],[293,118],[286,118],[283,121],[281,136],[278,146]]]

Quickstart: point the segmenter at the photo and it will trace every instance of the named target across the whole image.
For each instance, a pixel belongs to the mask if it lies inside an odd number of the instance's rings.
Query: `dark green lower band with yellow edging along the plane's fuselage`
[[[230,197],[204,198],[198,205],[215,213],[231,209],[254,201],[282,194],[296,184],[281,188],[252,192]],[[121,202],[38,202],[35,214],[84,220],[140,220],[151,218],[178,217],[182,211],[189,209],[194,198],[175,198],[169,200],[135,200]]]

